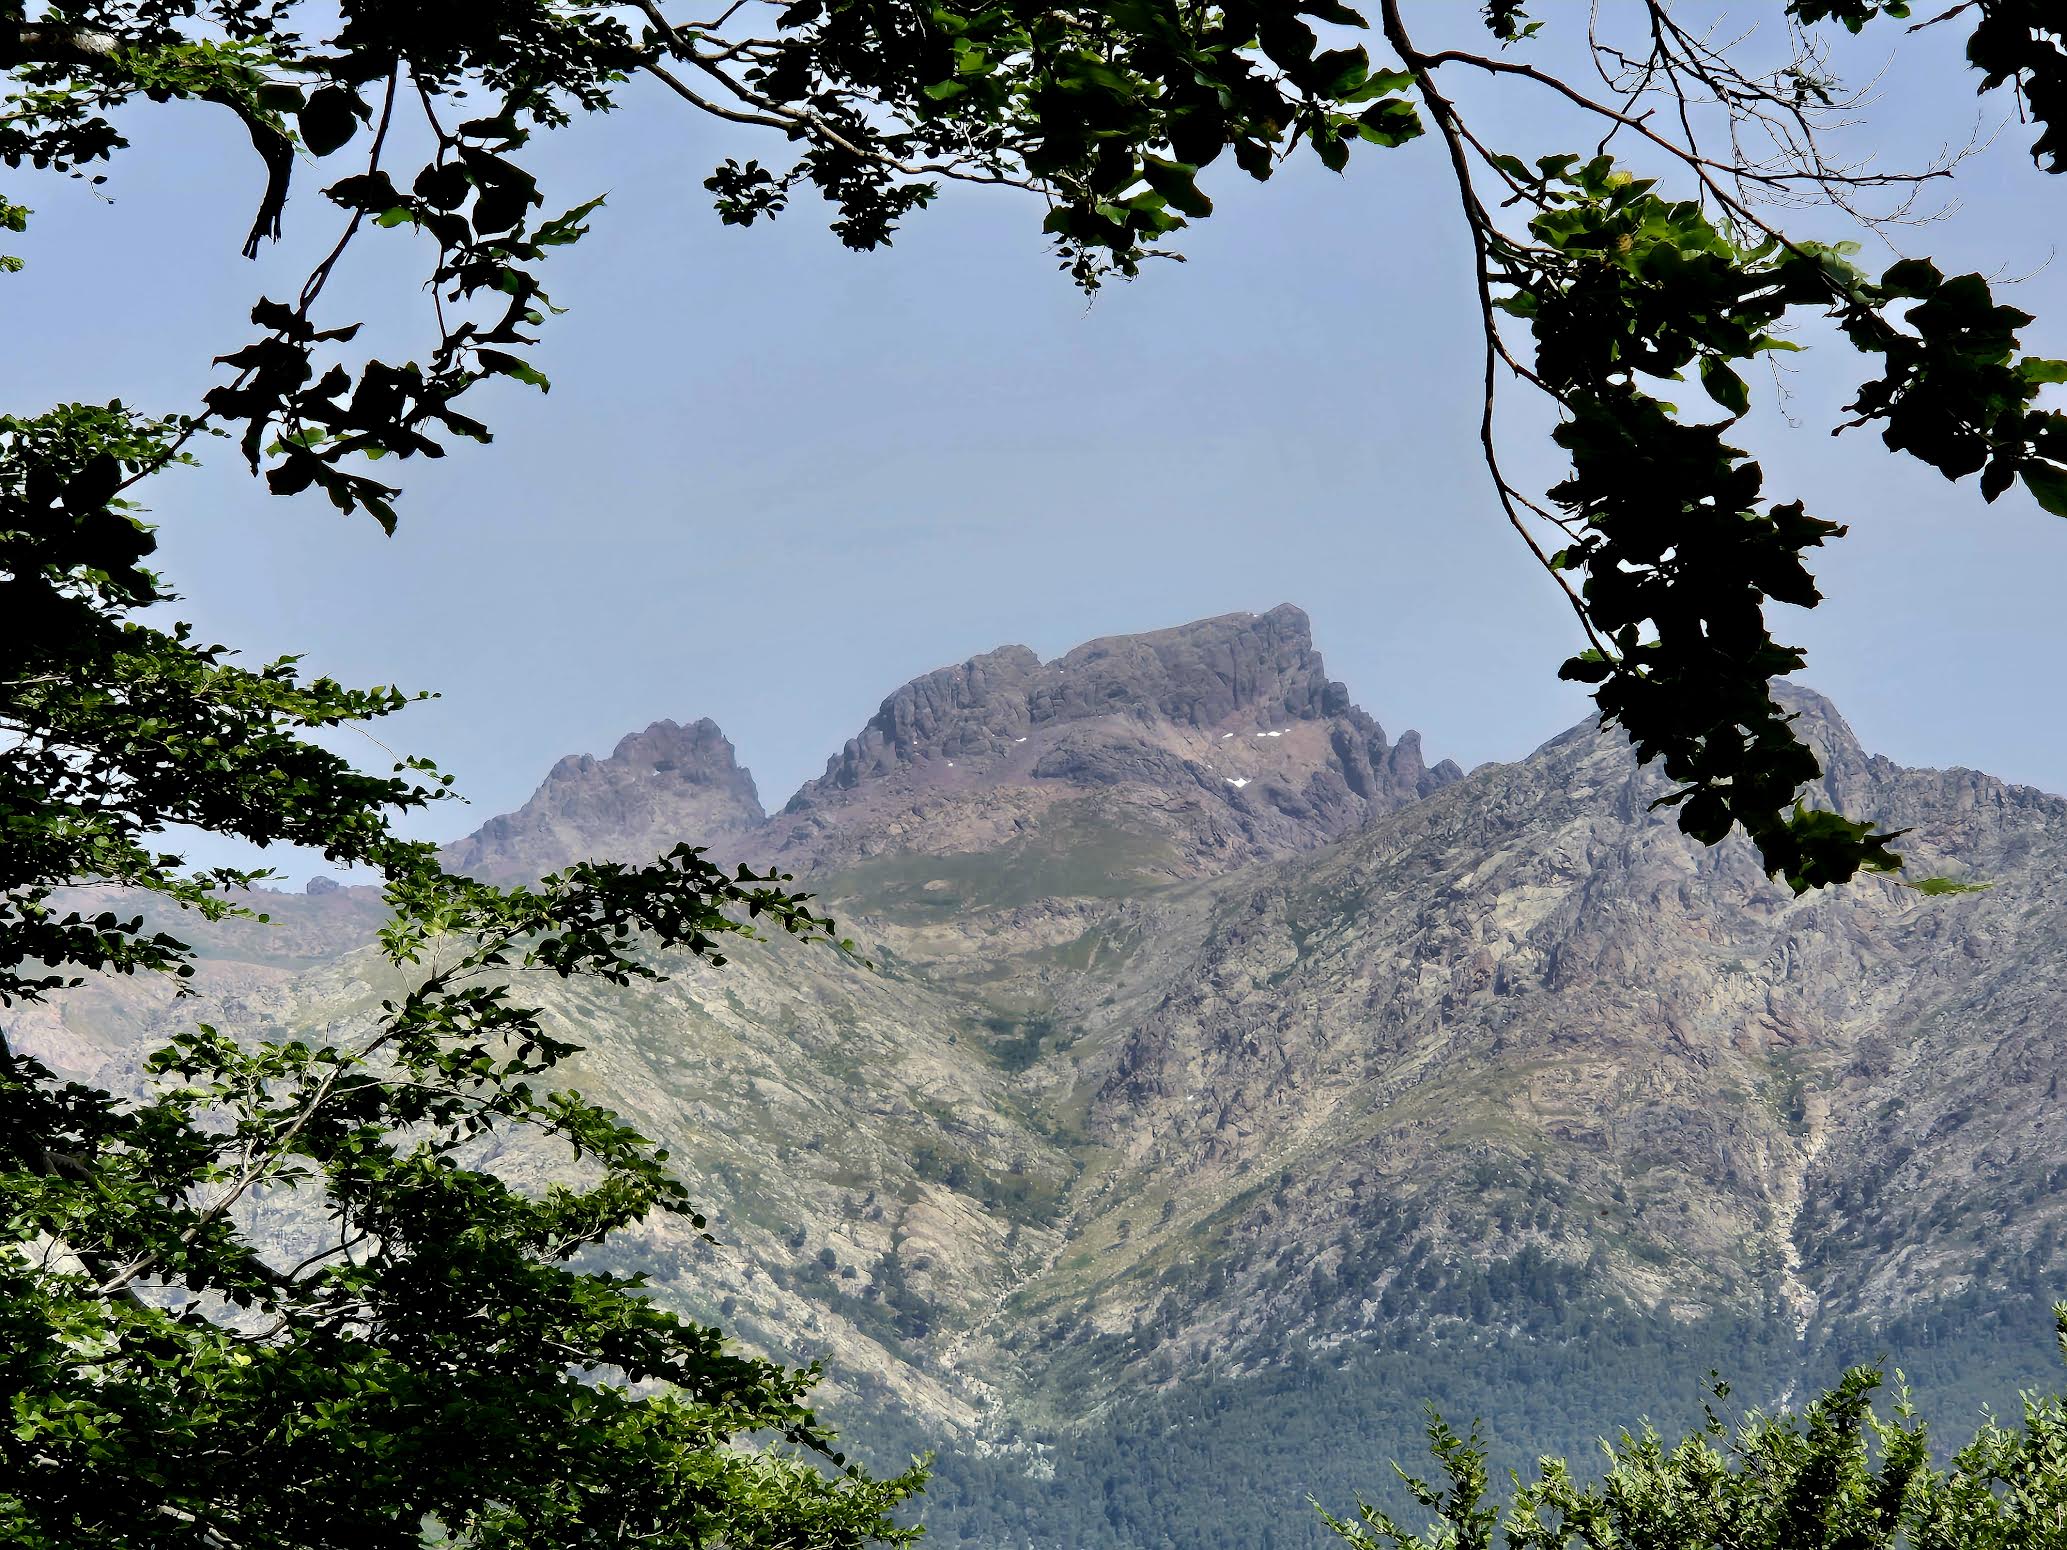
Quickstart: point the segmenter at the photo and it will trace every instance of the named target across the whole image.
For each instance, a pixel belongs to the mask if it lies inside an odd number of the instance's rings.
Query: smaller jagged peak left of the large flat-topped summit
[[[610,758],[568,754],[517,812],[444,847],[455,872],[527,880],[568,862],[649,862],[674,845],[746,833],[767,814],[754,777],[711,719],[655,721]]]

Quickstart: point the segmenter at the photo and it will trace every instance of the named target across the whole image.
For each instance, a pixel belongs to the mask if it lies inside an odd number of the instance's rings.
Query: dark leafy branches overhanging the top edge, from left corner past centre
[[[719,19],[670,17],[651,0],[95,0],[37,23],[0,17],[12,83],[0,163],[83,174],[126,145],[114,118],[124,105],[221,103],[267,169],[250,254],[279,236],[304,157],[347,159],[353,169],[322,188],[343,231],[298,296],[252,308],[260,337],[219,358],[232,380],[207,393],[200,420],[236,430],[277,494],[318,488],[393,527],[399,488],[370,461],[442,457],[453,436],[488,440],[459,407],[484,380],[546,389],[523,355],[552,310],[537,269],[583,236],[601,200],[542,217],[521,163],[533,134],[604,112],[645,79],[697,118],[788,147],[785,167],[728,159],[713,172],[707,188],[730,223],[816,188],[841,242],[876,248],[943,182],[1011,186],[1040,198],[1062,265],[1096,287],[1106,273],[1137,273],[1160,238],[1211,209],[1195,174],[1222,151],[1267,178],[1304,138],[1339,167],[1348,138],[1387,141],[1412,118],[1389,95],[1403,81],[1372,89],[1360,52],[1321,48],[1306,17],[1354,21],[1331,2],[1259,0],[1081,14],[1021,0],[754,0]],[[430,157],[397,165],[405,138],[428,143]],[[418,360],[356,360],[358,324],[318,318],[368,227],[436,242],[434,329]]]

